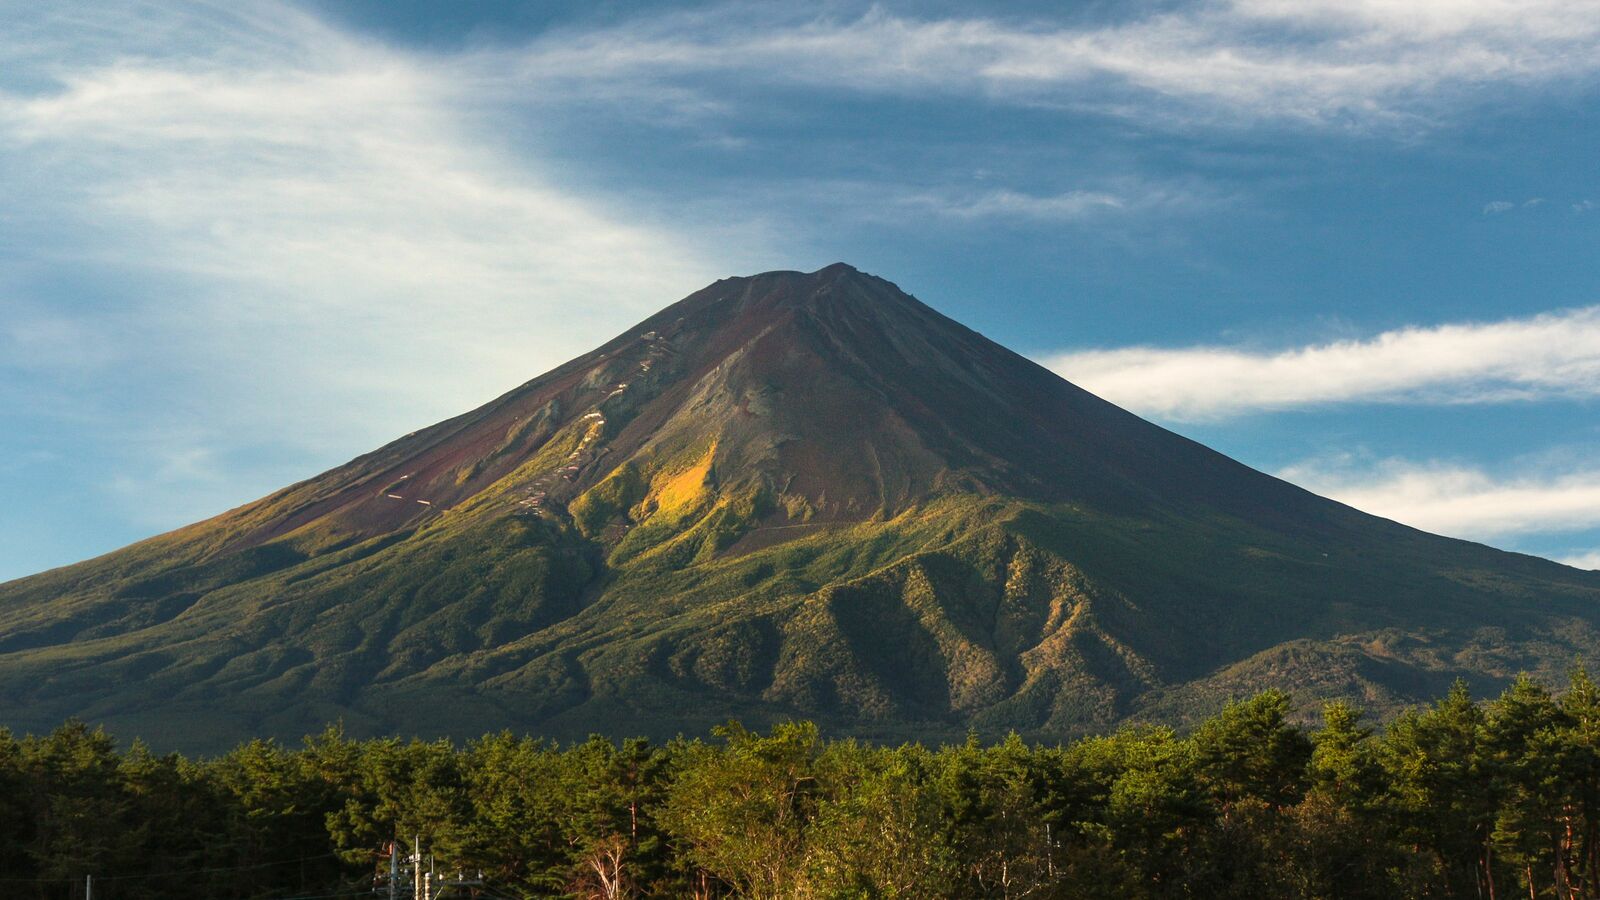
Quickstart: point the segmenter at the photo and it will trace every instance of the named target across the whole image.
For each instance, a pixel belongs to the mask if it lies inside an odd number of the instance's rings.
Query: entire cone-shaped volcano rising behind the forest
[[[845,264],[725,279],[462,416],[0,586],[0,722],[866,737],[1392,711],[1600,647],[1600,575],[1133,416]]]

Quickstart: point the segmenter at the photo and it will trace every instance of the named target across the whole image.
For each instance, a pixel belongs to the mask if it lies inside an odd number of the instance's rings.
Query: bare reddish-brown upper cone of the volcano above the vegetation
[[[293,511],[235,546],[318,519],[363,536],[414,527],[598,410],[626,424],[574,458],[574,477],[539,482],[552,501],[670,439],[674,426],[699,431],[715,420],[718,469],[782,479],[774,487],[803,496],[822,519],[893,514],[946,488],[1130,509],[1318,508],[1283,484],[1272,485],[1272,503],[1253,500],[1259,474],[840,263],[717,282],[493,404],[291,488],[283,500]]]

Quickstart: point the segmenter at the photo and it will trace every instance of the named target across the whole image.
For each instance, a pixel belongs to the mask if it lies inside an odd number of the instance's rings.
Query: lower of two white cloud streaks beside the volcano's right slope
[[[1600,527],[1600,468],[1493,477],[1451,463],[1309,460],[1278,477],[1357,509],[1458,538]]]

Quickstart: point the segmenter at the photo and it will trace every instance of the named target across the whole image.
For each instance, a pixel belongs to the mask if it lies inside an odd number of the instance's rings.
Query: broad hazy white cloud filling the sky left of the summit
[[[117,405],[90,410],[110,424],[349,453],[544,372],[744,247],[712,263],[498,149],[515,109],[483,99],[472,54],[418,58],[274,3],[45,10],[6,8],[0,43],[0,231],[27,234],[0,239],[18,312],[0,372],[94,370],[109,388],[74,404]],[[85,283],[46,283],[64,274]],[[226,456],[197,442],[107,480],[165,492],[194,471],[173,460]]]

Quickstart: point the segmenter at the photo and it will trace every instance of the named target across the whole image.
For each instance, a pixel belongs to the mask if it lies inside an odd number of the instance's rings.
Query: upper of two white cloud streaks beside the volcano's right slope
[[[1045,364],[1114,404],[1189,421],[1344,402],[1597,397],[1600,306],[1283,351],[1125,348]]]

